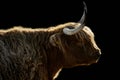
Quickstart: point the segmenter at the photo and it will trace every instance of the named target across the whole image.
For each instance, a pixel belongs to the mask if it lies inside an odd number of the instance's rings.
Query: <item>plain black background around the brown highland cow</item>
[[[117,78],[119,65],[119,43],[117,33],[117,4],[114,1],[87,1],[86,25],[94,34],[102,56],[91,66],[63,69],[56,80],[103,80]],[[78,21],[83,12],[81,1],[28,1],[0,3],[0,29],[13,26],[49,27],[66,22]],[[118,46],[118,47],[117,47]]]

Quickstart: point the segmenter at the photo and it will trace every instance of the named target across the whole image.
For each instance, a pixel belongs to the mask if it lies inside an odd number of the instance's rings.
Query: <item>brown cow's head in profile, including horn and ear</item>
[[[50,37],[53,46],[58,47],[64,55],[64,67],[74,67],[96,63],[101,55],[92,30],[85,26],[87,12],[84,3],[84,12],[80,21],[68,23],[62,32]]]

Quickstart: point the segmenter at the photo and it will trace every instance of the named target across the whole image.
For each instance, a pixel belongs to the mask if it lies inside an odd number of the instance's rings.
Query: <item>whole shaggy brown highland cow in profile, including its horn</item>
[[[85,5],[79,22],[0,30],[0,80],[54,80],[62,68],[97,63],[101,51],[86,12]]]

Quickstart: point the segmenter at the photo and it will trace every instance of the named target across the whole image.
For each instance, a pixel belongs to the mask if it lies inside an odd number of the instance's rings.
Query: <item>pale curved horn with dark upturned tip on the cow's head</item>
[[[83,29],[83,27],[85,25],[85,18],[86,18],[86,13],[87,13],[87,6],[86,6],[85,2],[83,2],[83,4],[84,4],[84,12],[83,12],[83,15],[82,15],[80,21],[77,22],[74,29],[64,28],[63,29],[64,34],[73,35],[73,34],[77,33],[78,31],[80,31],[81,29]]]

